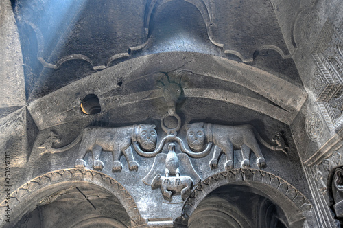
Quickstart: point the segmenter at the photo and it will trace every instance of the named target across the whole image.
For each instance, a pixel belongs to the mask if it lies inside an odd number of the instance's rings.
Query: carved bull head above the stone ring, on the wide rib
[[[163,97],[168,105],[169,115],[174,115],[176,103],[180,99],[183,89],[188,87],[189,81],[185,76],[185,71],[161,72],[161,78],[156,82],[156,87],[163,89]]]

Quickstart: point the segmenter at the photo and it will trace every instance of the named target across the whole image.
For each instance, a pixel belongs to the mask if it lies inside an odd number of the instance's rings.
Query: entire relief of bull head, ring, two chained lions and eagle
[[[226,155],[225,169],[233,169],[233,152],[241,150],[243,157],[241,167],[250,167],[251,150],[257,157],[257,166],[265,168],[266,162],[257,141],[261,142],[270,150],[283,151],[287,154],[287,146],[283,135],[277,133],[272,141],[276,145],[270,145],[264,141],[257,130],[250,125],[224,126],[211,123],[185,124],[187,130],[186,141],[178,137],[181,127],[181,119],[176,114],[176,104],[182,95],[182,89],[187,87],[188,81],[182,78],[182,71],[176,73],[162,73],[161,80],[156,86],[163,89],[163,95],[168,105],[168,112],[161,118],[161,128],[167,134],[157,141],[156,126],[154,124],[139,124],[123,126],[119,128],[102,128],[90,126],[85,128],[78,137],[67,146],[54,148],[53,144],[60,142],[60,138],[54,131],[39,146],[45,153],[64,152],[73,148],[80,142],[78,159],[75,168],[86,168],[84,157],[91,152],[93,157],[93,169],[102,170],[104,162],[100,160],[102,151],[113,153],[112,171],[122,170],[119,159],[122,155],[128,161],[130,171],[138,170],[139,164],[134,160],[133,152],[143,158],[154,157],[154,163],[150,172],[142,179],[143,183],[150,185],[152,189],[160,188],[166,201],[173,201],[173,196],[180,196],[185,201],[193,186],[201,179],[193,168],[189,157],[194,159],[206,157],[211,151],[213,156],[209,158],[211,169],[217,168],[218,160],[222,153]],[[177,126],[169,128],[165,125],[166,118],[175,117]],[[214,149],[212,149],[213,144]],[[167,148],[165,151],[164,148]],[[165,202],[168,203],[168,202]],[[182,202],[173,202],[182,203]]]

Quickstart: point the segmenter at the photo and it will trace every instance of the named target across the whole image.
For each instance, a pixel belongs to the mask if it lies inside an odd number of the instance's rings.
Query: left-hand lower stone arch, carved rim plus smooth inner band
[[[12,192],[11,224],[16,224],[26,212],[34,209],[43,199],[78,183],[91,183],[113,194],[126,209],[132,227],[145,224],[145,220],[141,218],[132,196],[120,183],[101,172],[79,168],[48,172],[28,181]],[[1,202],[0,208],[5,209],[5,205],[5,201]],[[4,223],[0,224],[0,227],[5,225]]]

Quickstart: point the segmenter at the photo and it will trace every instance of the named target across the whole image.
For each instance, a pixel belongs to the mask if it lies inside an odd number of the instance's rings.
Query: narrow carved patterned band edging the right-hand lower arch
[[[274,189],[278,190],[290,201],[292,201],[296,207],[301,209],[303,212],[311,210],[312,205],[309,200],[299,192],[294,186],[287,183],[287,181],[281,179],[279,176],[275,176],[269,172],[263,170],[255,170],[251,168],[239,168],[235,170],[229,170],[220,172],[205,179],[198,184],[195,190],[191,193],[191,196],[187,199],[183,210],[182,216],[189,218],[193,211],[196,209],[198,204],[213,190],[222,185],[230,183],[239,183],[242,181],[248,182],[259,182],[265,185],[270,185]]]

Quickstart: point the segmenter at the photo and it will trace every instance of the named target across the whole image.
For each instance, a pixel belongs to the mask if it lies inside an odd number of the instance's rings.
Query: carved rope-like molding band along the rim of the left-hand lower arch
[[[38,190],[44,190],[45,188],[52,187],[55,184],[68,183],[71,181],[85,181],[88,183],[93,183],[99,187],[103,187],[117,197],[121,205],[123,205],[123,207],[126,209],[126,212],[131,218],[132,227],[145,224],[145,220],[141,218],[139,210],[137,209],[137,205],[134,203],[132,196],[130,196],[128,191],[126,191],[126,189],[119,182],[101,172],[79,168],[69,168],[48,172],[47,174],[38,176],[35,179],[32,179],[31,181],[21,185],[21,187],[11,194],[11,208],[14,209],[15,212],[17,207],[23,206],[22,203],[32,197],[32,194]],[[0,203],[0,209],[3,210],[5,205],[6,204],[4,200]],[[0,218],[0,227],[3,227],[5,225],[4,223],[5,222],[3,218]]]

